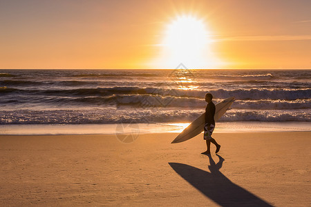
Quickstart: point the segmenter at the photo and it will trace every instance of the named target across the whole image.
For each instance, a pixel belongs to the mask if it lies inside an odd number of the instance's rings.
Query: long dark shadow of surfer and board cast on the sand
[[[208,155],[210,172],[186,164],[169,163],[169,165],[189,184],[220,206],[272,206],[225,177],[219,171],[225,159],[220,155],[217,156],[219,161],[215,164]]]

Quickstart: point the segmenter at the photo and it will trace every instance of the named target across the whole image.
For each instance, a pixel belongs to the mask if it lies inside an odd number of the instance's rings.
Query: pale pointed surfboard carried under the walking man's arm
[[[225,114],[225,112],[229,109],[233,102],[234,97],[229,97],[215,105],[215,121],[218,121],[218,119],[220,119],[220,117]],[[196,137],[196,135],[200,134],[200,132],[204,130],[204,125],[205,112],[200,115],[200,117],[198,117],[196,120],[192,121],[192,123],[171,142],[171,144],[187,141],[188,139]]]

